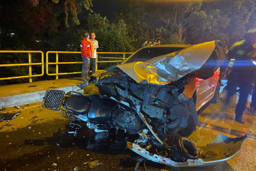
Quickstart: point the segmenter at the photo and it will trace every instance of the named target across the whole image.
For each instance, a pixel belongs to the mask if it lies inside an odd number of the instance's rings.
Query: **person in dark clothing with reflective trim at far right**
[[[240,88],[240,95],[238,104],[235,107],[234,120],[240,123],[244,123],[242,115],[246,108],[248,94],[251,92],[253,83],[253,77],[256,70],[256,66],[252,62],[252,58],[255,57],[256,49],[253,46],[256,42],[256,29],[249,30],[244,35],[244,40],[235,42],[229,51],[229,58],[235,59],[231,73],[227,79],[227,99],[225,105],[229,103],[229,100],[236,92],[236,88]]]

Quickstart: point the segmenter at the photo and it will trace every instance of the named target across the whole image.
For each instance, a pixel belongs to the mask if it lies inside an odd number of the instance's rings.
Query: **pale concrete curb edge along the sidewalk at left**
[[[64,88],[56,88],[55,90],[63,90],[64,92],[84,92],[77,86],[69,86]],[[13,107],[15,105],[25,105],[28,103],[35,103],[42,101],[44,94],[47,90],[42,90],[38,92],[29,92],[25,94],[17,94],[14,96],[5,96],[0,98],[0,107]]]

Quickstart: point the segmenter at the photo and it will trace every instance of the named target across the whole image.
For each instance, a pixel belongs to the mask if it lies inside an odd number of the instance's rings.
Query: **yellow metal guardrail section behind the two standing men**
[[[49,62],[49,54],[50,53],[55,53],[55,58],[56,62]],[[60,53],[66,53],[66,54],[81,54],[81,52],[77,51],[47,51],[46,53],[46,67],[47,67],[47,75],[55,75],[56,79],[58,79],[59,75],[71,75],[71,74],[80,74],[81,71],[79,72],[73,72],[73,73],[59,73],[59,64],[82,64],[83,62],[59,62],[59,54]],[[118,54],[118,55],[123,55],[122,57],[99,57],[99,54]],[[97,52],[97,66],[96,70],[98,70],[98,64],[99,63],[110,63],[110,62],[122,62],[123,60],[126,60],[127,57],[125,55],[127,54],[132,54],[132,53],[125,53],[125,52]],[[99,60],[99,59],[111,59],[107,61]],[[49,65],[56,65],[56,73],[49,73]]]

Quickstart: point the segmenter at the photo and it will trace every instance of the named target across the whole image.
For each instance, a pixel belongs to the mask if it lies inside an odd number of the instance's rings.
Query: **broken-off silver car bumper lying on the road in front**
[[[242,146],[242,143],[251,135],[246,133],[242,137],[227,137],[226,135],[218,135],[214,142],[206,146],[199,146],[199,159],[188,159],[184,162],[172,161],[169,158],[162,157],[161,155],[151,154],[146,149],[140,147],[138,144],[127,142],[127,148],[133,150],[138,155],[162,163],[168,166],[175,167],[192,167],[192,166],[209,166],[222,161],[227,161],[235,154],[237,154]]]

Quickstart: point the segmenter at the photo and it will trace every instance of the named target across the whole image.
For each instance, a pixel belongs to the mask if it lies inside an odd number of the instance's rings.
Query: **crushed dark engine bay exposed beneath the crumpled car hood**
[[[118,104],[122,103],[133,109],[140,105],[146,118],[162,120],[150,123],[152,127],[157,127],[155,131],[160,137],[164,137],[165,133],[177,133],[188,127],[188,118],[191,118],[190,114],[196,110],[190,107],[192,105],[188,105],[191,102],[182,93],[183,86],[188,84],[187,81],[175,81],[168,85],[156,86],[138,84],[120,71],[110,75],[112,76],[95,83],[100,94],[111,96]],[[192,127],[196,127],[196,124]],[[194,131],[195,128],[191,129]]]

